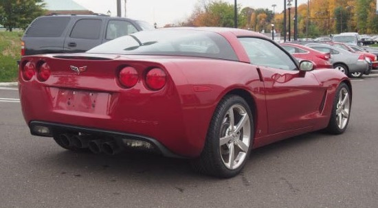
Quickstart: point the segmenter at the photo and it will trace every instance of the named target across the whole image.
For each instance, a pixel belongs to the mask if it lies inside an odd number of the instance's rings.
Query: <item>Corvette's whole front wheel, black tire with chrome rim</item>
[[[337,87],[329,124],[324,130],[333,135],[342,134],[348,126],[351,106],[351,89],[343,82]]]

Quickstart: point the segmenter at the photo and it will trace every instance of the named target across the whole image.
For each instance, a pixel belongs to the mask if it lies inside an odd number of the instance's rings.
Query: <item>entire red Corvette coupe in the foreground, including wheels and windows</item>
[[[169,28],[117,38],[82,54],[24,56],[23,116],[59,146],[191,159],[232,177],[254,148],[304,132],[341,134],[350,80],[313,70],[247,30]]]

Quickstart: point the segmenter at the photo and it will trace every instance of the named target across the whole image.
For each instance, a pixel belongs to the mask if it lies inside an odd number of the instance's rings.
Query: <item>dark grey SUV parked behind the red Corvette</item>
[[[51,15],[36,18],[25,30],[21,56],[83,52],[153,25],[107,15]]]

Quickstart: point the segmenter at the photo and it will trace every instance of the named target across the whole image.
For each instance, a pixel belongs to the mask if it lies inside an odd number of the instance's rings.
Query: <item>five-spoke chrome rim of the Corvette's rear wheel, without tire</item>
[[[249,115],[240,104],[228,109],[223,117],[219,148],[225,167],[234,170],[243,164],[251,140]]]

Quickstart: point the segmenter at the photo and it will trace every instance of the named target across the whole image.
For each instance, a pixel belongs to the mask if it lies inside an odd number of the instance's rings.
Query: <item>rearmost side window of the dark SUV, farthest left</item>
[[[59,37],[69,23],[68,16],[43,17],[34,20],[25,31],[26,37]]]

